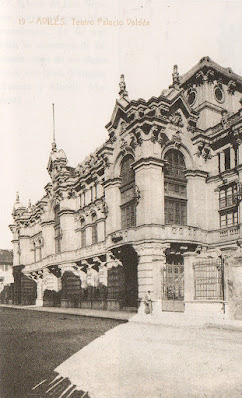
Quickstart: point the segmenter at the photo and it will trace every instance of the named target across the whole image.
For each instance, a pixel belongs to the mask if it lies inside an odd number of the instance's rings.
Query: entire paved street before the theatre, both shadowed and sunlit
[[[0,314],[1,398],[241,396],[239,329]]]

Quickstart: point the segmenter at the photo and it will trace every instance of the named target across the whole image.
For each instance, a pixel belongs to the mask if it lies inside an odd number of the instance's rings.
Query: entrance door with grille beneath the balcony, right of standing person
[[[184,312],[184,266],[173,261],[163,269],[162,311]]]

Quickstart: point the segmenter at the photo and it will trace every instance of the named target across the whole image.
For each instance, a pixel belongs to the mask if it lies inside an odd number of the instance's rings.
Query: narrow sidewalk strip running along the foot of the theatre
[[[0,308],[13,308],[18,310],[31,310],[50,312],[56,314],[68,314],[75,316],[88,316],[92,318],[114,319],[123,322],[145,323],[149,325],[163,325],[172,327],[209,327],[227,330],[242,331],[242,321],[213,318],[208,316],[187,315],[179,312],[162,312],[159,315],[146,315],[143,312],[134,313],[127,311],[102,311],[81,308],[62,307],[36,307],[34,305],[21,306],[11,304],[0,304]]]

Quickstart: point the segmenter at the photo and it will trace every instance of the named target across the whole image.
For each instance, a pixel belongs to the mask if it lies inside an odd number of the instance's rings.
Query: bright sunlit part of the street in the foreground
[[[91,398],[239,398],[240,361],[239,332],[128,322],[55,372]]]

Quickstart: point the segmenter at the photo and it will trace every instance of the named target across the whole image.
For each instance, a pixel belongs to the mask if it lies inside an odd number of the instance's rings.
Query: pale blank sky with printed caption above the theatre
[[[242,75],[242,2],[0,0],[0,248],[12,208],[49,182],[52,103],[58,149],[75,167],[102,145],[120,75],[130,99],[159,96],[203,56]],[[142,23],[139,25],[139,23]]]

